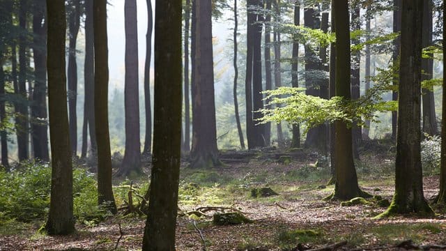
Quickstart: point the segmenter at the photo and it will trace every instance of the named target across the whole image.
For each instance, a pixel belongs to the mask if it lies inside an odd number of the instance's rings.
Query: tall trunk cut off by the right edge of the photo
[[[446,4],[443,4],[443,13],[446,13]],[[443,15],[443,24],[446,24],[446,15]],[[443,38],[446,38],[446,29],[443,26]],[[443,43],[443,55],[446,55],[446,43]],[[446,118],[446,67],[443,63],[443,100],[441,102],[442,118]],[[440,191],[436,203],[446,204],[446,119],[441,120],[441,155],[440,155]]]

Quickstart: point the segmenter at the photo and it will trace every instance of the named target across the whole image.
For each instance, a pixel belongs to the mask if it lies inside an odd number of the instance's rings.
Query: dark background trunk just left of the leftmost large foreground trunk
[[[45,0],[33,4],[33,59],[34,89],[31,105],[31,130],[34,158],[49,161],[47,132],[47,20],[45,19]]]

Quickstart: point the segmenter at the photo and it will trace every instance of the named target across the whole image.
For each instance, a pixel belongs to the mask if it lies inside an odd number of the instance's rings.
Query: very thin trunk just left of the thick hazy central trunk
[[[190,151],[190,82],[189,82],[189,37],[192,4],[186,0],[184,26],[184,141],[183,151]]]

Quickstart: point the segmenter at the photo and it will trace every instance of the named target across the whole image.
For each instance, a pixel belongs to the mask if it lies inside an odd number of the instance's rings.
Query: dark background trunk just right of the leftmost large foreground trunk
[[[80,2],[74,0],[68,3],[70,9],[68,17],[68,114],[70,121],[70,143],[71,153],[77,155],[77,62],[76,62],[76,40],[79,32]]]

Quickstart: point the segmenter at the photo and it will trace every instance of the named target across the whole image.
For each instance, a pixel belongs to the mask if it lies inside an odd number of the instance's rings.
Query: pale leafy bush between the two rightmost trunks
[[[429,136],[421,142],[421,162],[425,174],[440,173],[441,138],[438,135]]]

